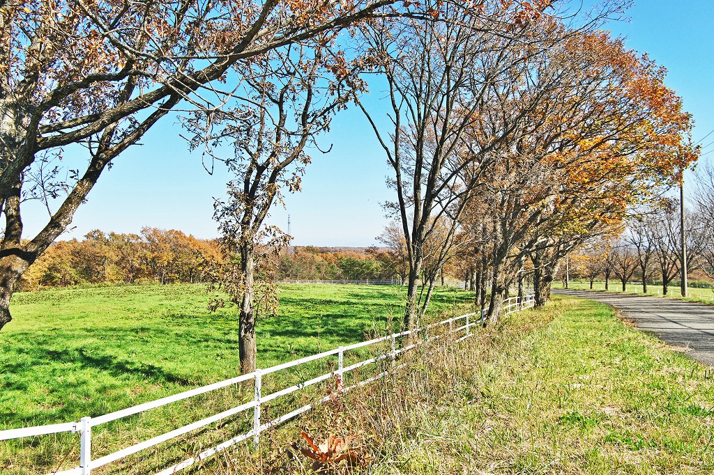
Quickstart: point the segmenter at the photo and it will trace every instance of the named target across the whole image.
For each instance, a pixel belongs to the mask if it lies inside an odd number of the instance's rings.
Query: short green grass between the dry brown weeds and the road
[[[458,417],[430,424],[434,435],[414,439],[404,468],[383,473],[714,469],[714,381],[705,367],[625,327],[604,305],[557,299],[548,312],[548,325],[508,332],[501,354],[475,369]]]

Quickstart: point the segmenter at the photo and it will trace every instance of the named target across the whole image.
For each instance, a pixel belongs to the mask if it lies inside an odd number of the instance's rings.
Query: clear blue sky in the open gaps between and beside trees
[[[693,114],[695,141],[714,129],[714,1],[639,0],[628,23],[610,24],[626,36],[629,48],[647,52],[668,68],[667,84],[683,97]],[[368,101],[378,106],[383,95],[372,91]],[[73,229],[62,238],[81,237],[93,229],[138,233],[143,226],[178,229],[196,237],[216,237],[213,197],[223,194],[228,178],[220,166],[209,175],[199,155],[188,153],[178,136],[181,126],[166,118],[142,143],[121,155],[104,173],[88,202],[77,211]],[[703,141],[714,158],[714,134]],[[271,223],[286,229],[291,215],[295,245],[368,246],[376,244],[387,220],[380,203],[392,199],[385,178],[389,168],[361,112],[345,111],[333,121],[323,145],[331,153],[312,154],[303,191],[276,206]],[[326,147],[323,147],[326,148]],[[26,235],[46,223],[46,212],[33,205],[24,210]]]

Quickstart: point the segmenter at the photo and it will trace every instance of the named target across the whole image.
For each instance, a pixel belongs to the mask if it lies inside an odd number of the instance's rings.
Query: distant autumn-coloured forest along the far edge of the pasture
[[[210,282],[235,264],[219,240],[177,230],[143,228],[139,234],[94,230],[82,240],[55,242],[25,273],[19,290],[83,284]],[[278,280],[403,280],[406,264],[385,247],[295,246],[281,250]]]

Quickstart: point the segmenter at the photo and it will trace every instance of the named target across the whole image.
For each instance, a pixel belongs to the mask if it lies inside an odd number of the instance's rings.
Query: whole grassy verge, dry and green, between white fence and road
[[[371,474],[707,474],[713,375],[609,307],[556,297],[345,394],[303,426],[320,440],[357,434]],[[233,455],[206,470],[310,473],[289,449],[296,431],[272,440],[260,459]]]

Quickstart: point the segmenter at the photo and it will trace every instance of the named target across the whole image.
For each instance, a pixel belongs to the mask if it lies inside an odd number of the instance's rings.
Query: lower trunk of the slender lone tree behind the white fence
[[[241,244],[241,271],[243,272],[243,299],[238,320],[238,352],[241,357],[241,372],[250,373],[256,369],[256,315],[253,305],[253,243]]]

